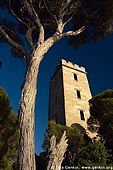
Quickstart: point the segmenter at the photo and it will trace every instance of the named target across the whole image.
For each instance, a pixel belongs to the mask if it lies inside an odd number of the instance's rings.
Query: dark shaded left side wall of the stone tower
[[[49,120],[65,125],[62,67],[58,67],[50,82]]]

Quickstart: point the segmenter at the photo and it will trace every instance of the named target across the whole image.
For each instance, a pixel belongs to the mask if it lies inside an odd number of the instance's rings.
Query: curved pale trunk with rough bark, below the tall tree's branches
[[[19,110],[19,170],[35,170],[34,109],[37,93],[37,76],[44,54],[54,44],[53,38],[39,45],[33,52],[24,81]]]

